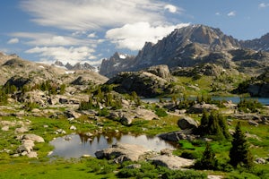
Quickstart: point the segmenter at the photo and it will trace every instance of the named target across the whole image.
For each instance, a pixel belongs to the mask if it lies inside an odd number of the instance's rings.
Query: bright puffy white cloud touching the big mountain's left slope
[[[117,48],[139,50],[146,41],[156,43],[167,36],[172,30],[187,26],[187,23],[178,25],[152,26],[149,22],[126,24],[121,28],[108,30],[106,37],[117,45]]]

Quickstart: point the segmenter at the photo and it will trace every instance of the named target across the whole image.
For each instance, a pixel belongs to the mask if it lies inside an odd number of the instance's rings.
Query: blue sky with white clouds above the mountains
[[[3,0],[0,8],[0,52],[47,64],[137,55],[189,24],[238,39],[269,32],[269,0]]]

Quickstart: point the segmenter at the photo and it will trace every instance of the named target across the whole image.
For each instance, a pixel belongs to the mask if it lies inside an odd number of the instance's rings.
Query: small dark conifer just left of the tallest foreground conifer
[[[211,148],[209,143],[206,142],[203,157],[195,162],[195,168],[213,170],[216,169],[217,163],[218,161],[215,158],[215,153],[213,152],[213,149]]]

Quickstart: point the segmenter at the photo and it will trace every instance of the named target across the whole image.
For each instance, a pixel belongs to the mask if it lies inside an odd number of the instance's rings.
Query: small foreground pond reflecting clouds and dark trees
[[[51,156],[63,158],[80,158],[82,155],[91,155],[99,149],[107,149],[116,142],[142,145],[147,149],[160,151],[161,149],[175,149],[176,144],[161,140],[159,137],[151,137],[146,135],[124,134],[120,132],[112,132],[99,134],[96,136],[88,136],[83,133],[70,134],[65,137],[56,138],[49,143],[55,147]]]

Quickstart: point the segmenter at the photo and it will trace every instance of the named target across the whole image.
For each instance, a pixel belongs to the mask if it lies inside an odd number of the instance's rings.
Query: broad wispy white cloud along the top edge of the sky
[[[97,30],[137,21],[163,21],[160,0],[25,0],[24,11],[39,25],[65,30]],[[170,5],[173,12],[175,6]]]

